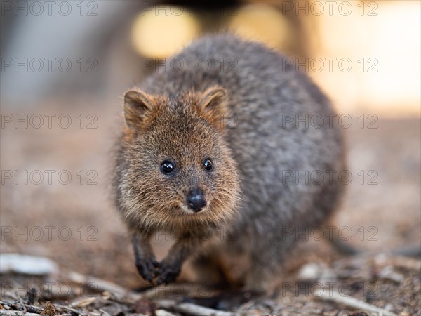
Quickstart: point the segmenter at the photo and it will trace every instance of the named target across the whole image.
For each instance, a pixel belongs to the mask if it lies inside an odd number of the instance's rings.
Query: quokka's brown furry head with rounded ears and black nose
[[[240,183],[224,138],[224,89],[175,98],[131,90],[124,116],[117,190],[128,224],[218,226],[233,215]]]

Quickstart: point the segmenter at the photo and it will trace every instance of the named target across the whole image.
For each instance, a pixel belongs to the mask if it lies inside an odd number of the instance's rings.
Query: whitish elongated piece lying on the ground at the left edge
[[[58,272],[58,265],[45,257],[21,254],[0,254],[0,274],[51,275]]]

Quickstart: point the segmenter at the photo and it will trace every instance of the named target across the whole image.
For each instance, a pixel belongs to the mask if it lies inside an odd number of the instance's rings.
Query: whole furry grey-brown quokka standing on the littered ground
[[[114,185],[142,277],[172,282],[200,257],[231,282],[269,289],[291,232],[320,225],[342,192],[328,99],[289,58],[222,34],[194,41],[124,100]],[[179,234],[161,263],[156,230]]]

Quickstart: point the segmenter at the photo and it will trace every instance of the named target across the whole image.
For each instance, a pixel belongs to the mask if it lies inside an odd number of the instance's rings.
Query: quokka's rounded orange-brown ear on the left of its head
[[[156,102],[153,96],[140,90],[129,90],[124,94],[124,117],[128,127],[142,124],[145,117],[155,110]]]

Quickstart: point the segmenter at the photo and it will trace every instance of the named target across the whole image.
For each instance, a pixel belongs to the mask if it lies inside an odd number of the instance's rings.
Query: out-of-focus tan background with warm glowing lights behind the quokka
[[[1,252],[135,287],[109,193],[123,93],[227,30],[289,55],[347,120],[352,180],[332,225],[366,251],[420,244],[420,13],[392,0],[1,1]]]

